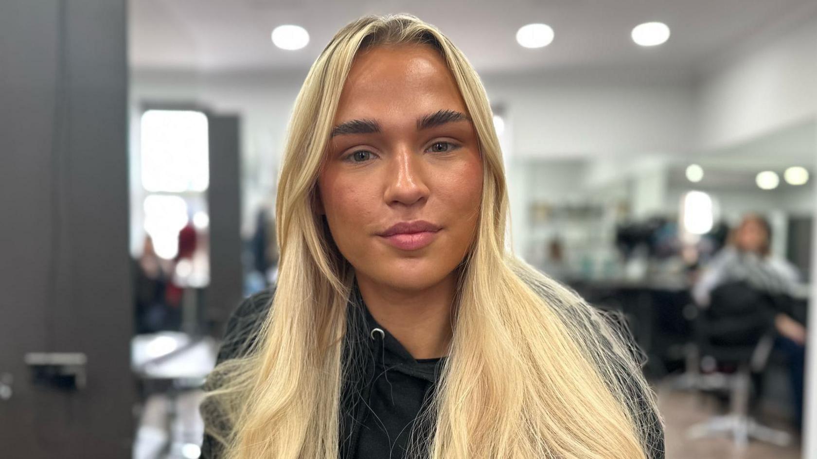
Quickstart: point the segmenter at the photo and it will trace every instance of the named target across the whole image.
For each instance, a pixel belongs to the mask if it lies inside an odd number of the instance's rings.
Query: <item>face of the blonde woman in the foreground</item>
[[[414,290],[453,273],[474,238],[483,168],[465,103],[433,48],[362,51],[326,155],[319,212],[359,279]],[[421,221],[429,226],[393,228]]]

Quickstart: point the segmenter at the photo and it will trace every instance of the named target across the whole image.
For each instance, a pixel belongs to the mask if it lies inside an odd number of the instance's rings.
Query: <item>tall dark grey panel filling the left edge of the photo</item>
[[[0,457],[130,457],[125,15],[0,0]]]

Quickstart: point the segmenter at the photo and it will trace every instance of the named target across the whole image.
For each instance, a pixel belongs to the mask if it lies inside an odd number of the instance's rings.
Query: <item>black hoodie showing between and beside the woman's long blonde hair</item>
[[[265,318],[272,300],[272,292],[261,292],[243,301],[230,316],[225,338],[218,354],[218,362],[234,359],[246,353],[256,336],[257,328]],[[350,382],[342,394],[342,422],[340,434],[341,459],[408,459],[409,442],[417,422],[417,414],[424,403],[434,396],[436,381],[445,358],[414,359],[391,333],[382,327],[365,307],[355,283],[350,308],[363,305],[360,314],[350,310],[346,333],[346,352],[355,355],[349,359],[355,365]],[[357,336],[354,341],[349,336]],[[350,345],[354,342],[357,345]],[[348,351],[353,349],[353,351]],[[217,382],[209,381],[209,388]],[[211,404],[202,407],[204,421],[220,431],[229,426],[219,423]],[[650,413],[654,416],[654,413]],[[431,419],[433,417],[421,417]],[[655,459],[663,458],[663,430],[657,428],[651,441]],[[428,432],[431,425],[418,426]],[[416,434],[416,433],[415,433]],[[418,439],[422,441],[423,439]],[[308,441],[308,440],[307,440]],[[202,459],[221,459],[221,444],[205,434]]]

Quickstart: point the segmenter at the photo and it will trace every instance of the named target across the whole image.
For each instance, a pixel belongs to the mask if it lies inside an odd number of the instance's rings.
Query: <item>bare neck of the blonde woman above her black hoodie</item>
[[[356,277],[369,312],[414,359],[435,359],[448,354],[456,272],[420,290],[377,283],[359,273]]]

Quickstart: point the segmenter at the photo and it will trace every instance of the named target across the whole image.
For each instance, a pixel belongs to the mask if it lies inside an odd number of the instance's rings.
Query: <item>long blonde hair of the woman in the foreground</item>
[[[337,458],[347,305],[354,271],[315,212],[316,180],[338,100],[365,47],[434,47],[480,142],[484,180],[462,261],[449,359],[414,433],[432,459],[654,457],[654,396],[629,341],[574,292],[505,247],[502,152],[484,88],[462,52],[413,16],[346,25],[297,96],[276,203],[279,281],[248,354],[211,375],[210,434],[230,459]],[[216,381],[215,383],[213,381]],[[646,416],[654,413],[654,416]]]

